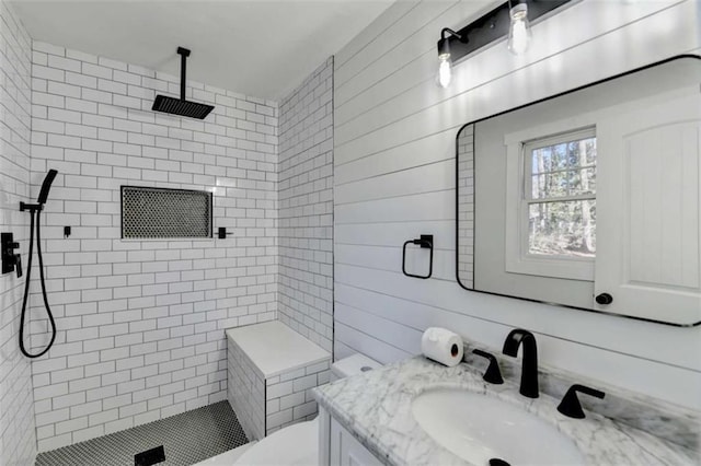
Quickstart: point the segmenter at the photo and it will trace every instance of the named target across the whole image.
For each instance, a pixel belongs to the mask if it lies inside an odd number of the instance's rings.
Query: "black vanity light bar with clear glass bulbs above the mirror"
[[[482,47],[508,35],[508,49],[520,55],[530,42],[530,21],[573,0],[509,0],[460,31],[444,27],[438,40],[438,79],[441,88],[450,84],[452,66]]]

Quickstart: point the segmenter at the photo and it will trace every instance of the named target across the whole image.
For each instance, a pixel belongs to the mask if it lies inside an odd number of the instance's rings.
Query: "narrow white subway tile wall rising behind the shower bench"
[[[332,351],[333,57],[279,115],[279,318]]]

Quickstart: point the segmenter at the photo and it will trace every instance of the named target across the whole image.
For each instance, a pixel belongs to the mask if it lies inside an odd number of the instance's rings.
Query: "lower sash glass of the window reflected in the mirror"
[[[528,253],[594,257],[596,201],[539,202],[529,206]]]

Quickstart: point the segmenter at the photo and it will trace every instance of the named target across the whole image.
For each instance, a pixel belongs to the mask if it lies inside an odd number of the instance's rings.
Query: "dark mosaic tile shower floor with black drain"
[[[36,466],[134,466],[134,455],[159,445],[165,462],[187,466],[249,443],[228,401],[64,446],[36,457]]]

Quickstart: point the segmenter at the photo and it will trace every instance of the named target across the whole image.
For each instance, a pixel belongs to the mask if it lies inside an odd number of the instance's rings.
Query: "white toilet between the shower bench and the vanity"
[[[381,364],[357,353],[331,365],[331,382],[356,375]],[[232,465],[315,465],[319,462],[319,418],[299,422],[221,455],[198,463],[196,466]]]

